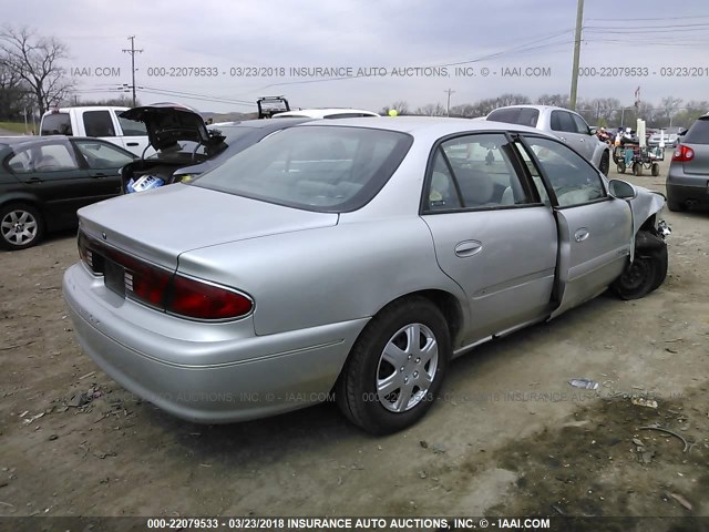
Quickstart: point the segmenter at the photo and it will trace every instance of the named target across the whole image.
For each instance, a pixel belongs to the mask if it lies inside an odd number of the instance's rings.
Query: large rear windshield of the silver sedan
[[[346,126],[290,127],[264,139],[194,185],[319,212],[354,211],[397,170],[410,135]]]

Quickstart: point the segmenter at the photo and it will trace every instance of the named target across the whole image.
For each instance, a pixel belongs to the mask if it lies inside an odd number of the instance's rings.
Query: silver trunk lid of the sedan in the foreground
[[[79,209],[80,229],[89,236],[168,268],[185,252],[329,227],[338,217],[183,184]]]

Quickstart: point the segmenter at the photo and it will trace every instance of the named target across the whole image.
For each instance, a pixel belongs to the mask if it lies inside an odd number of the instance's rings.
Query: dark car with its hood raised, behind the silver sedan
[[[123,193],[193,180],[265,136],[309,120],[246,120],[207,126],[196,111],[176,103],[134,108],[121,117],[145,124],[155,151],[123,167]]]

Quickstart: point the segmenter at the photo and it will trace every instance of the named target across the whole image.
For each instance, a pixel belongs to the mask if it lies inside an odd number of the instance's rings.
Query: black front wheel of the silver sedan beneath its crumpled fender
[[[614,294],[625,300],[647,296],[667,277],[668,256],[665,241],[646,231],[638,233],[637,241],[641,241],[643,247],[636,247],[635,260],[610,285]]]

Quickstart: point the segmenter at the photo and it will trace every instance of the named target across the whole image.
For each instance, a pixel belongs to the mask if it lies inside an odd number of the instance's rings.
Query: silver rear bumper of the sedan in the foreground
[[[327,400],[368,321],[263,337],[176,339],[123,319],[114,301],[95,296],[92,283],[81,264],[64,275],[64,297],[84,352],[142,399],[204,423],[245,421]]]

